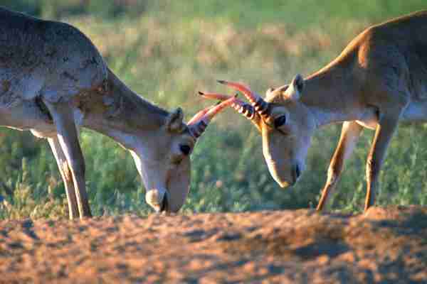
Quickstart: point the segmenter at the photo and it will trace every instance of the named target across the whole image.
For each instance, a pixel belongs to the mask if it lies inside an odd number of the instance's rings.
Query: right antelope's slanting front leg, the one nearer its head
[[[345,121],[342,124],[341,137],[327,170],[327,181],[322,190],[319,204],[317,204],[317,211],[322,211],[329,200],[330,192],[333,192],[337,187],[339,176],[344,168],[344,161],[352,154],[362,129],[362,126],[356,121]]]

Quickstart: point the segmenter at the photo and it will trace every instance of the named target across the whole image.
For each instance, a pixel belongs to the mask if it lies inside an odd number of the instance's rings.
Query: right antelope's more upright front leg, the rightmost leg
[[[384,161],[391,137],[396,131],[397,124],[399,123],[400,114],[401,109],[380,114],[379,123],[378,126],[376,126],[374,140],[367,159],[367,197],[364,205],[365,212],[369,207],[374,205],[379,171],[381,170],[381,165]]]

